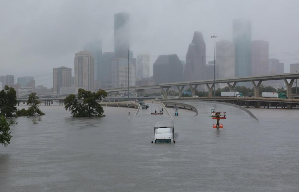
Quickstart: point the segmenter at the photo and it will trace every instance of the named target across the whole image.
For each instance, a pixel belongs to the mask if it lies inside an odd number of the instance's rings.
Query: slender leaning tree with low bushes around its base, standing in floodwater
[[[38,96],[36,96],[36,93],[30,93],[28,96],[27,105],[31,105],[31,107],[28,108],[28,110],[25,110],[24,108],[21,110],[16,111],[17,116],[33,116],[36,113],[39,115],[45,115],[40,109],[40,101],[37,100]]]

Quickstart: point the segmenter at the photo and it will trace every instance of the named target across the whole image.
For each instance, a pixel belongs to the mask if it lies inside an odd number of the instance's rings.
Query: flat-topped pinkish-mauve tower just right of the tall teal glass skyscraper
[[[253,40],[251,47],[251,75],[268,75],[269,42],[263,40]]]

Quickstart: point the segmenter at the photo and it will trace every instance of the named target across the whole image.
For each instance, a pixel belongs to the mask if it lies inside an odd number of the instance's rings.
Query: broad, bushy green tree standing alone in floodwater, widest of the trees
[[[70,111],[74,117],[101,117],[104,110],[97,103],[97,100],[100,101],[106,96],[106,91],[102,89],[98,90],[97,93],[79,89],[77,98],[74,94],[70,94],[65,98],[65,110]],[[82,100],[82,102],[79,100]]]

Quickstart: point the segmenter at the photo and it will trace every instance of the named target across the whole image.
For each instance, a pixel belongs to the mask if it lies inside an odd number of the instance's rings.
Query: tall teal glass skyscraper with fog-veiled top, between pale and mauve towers
[[[251,76],[251,21],[233,21],[235,76]]]

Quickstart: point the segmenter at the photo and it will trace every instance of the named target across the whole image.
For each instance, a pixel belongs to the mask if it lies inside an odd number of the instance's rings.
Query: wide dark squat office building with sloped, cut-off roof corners
[[[156,84],[182,81],[183,65],[176,54],[159,55],[152,67]]]

